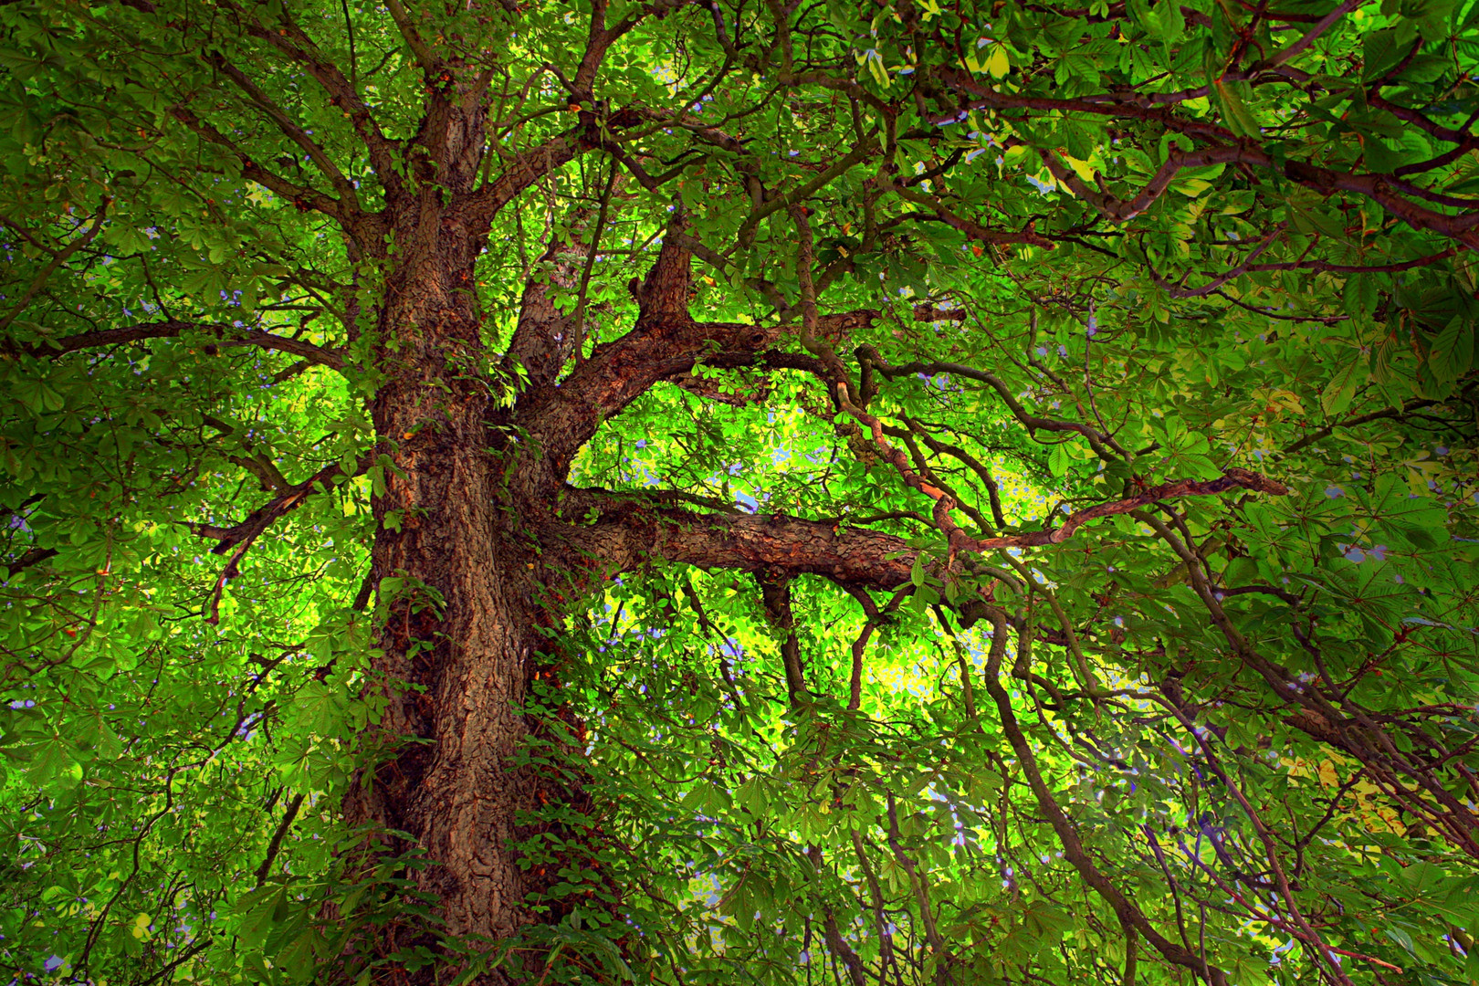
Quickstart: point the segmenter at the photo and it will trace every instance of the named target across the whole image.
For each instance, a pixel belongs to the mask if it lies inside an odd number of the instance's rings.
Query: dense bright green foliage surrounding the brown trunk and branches
[[[312,491],[253,545],[225,588],[219,630],[198,615],[225,559],[211,553],[219,538],[197,531],[237,525],[336,463],[358,469],[376,441],[364,399],[393,378],[393,361],[352,368],[346,381],[231,334],[346,346],[358,306],[359,339],[345,352],[365,362],[401,254],[365,256],[385,245],[380,219],[365,220],[351,250],[303,195],[333,186],[303,140],[198,52],[257,80],[367,208],[395,174],[426,180],[404,146],[427,92],[386,10],[348,4],[351,64],[343,6],[288,4],[358,78],[395,143],[390,166],[371,167],[356,114],[287,61],[275,38],[288,34],[271,34],[281,7],[244,13],[260,21],[235,35],[231,18],[203,27],[189,4],[158,6],[157,16],[0,6],[0,216],[19,285],[3,293],[37,285],[3,330],[0,359],[10,398],[0,645],[19,655],[7,665],[0,751],[9,803],[34,806],[3,819],[30,863],[4,891],[6,914],[22,918],[15,937],[7,925],[6,948],[78,961],[95,937],[86,976],[126,982],[201,945],[179,979],[308,982],[364,927],[356,921],[422,919],[433,906],[413,894],[398,915],[380,909],[383,890],[408,891],[414,872],[346,881],[334,869],[352,844],[337,829],[337,795],[359,763],[359,733],[383,713],[352,699],[373,690],[362,674],[374,622],[346,603],[374,537],[368,501],[407,477],[376,448],[365,476]],[[1330,4],[1306,7],[1287,22],[1268,7],[1170,0],[1126,10],[1096,0],[1083,16],[1004,4],[985,19],[935,0],[787,9],[793,68],[834,72],[828,87],[779,77],[787,49],[763,6],[674,9],[614,40],[598,98],[654,114],[651,126],[608,124],[600,142],[583,135],[580,155],[491,220],[466,285],[487,316],[487,349],[458,353],[458,373],[498,365],[529,278],[547,279],[546,237],[583,235],[612,173],[605,152],[620,146],[649,174],[677,170],[654,191],[617,169],[584,284],[586,355],[630,328],[627,284],[651,265],[674,200],[711,254],[694,263],[694,318],[778,325],[772,302],[800,296],[796,223],[779,207],[745,223],[757,204],[797,197],[827,272],[822,313],[877,312],[834,340],[853,378],[867,344],[893,367],[963,364],[995,380],[873,374],[870,412],[911,469],[950,486],[963,529],[1031,534],[1228,467],[1291,492],[1173,497],[1096,519],[1062,545],[950,551],[933,503],[901,482],[871,435],[805,364],[778,368],[800,353],[794,312],[766,355],[776,365],[737,365],[748,353],[704,353],[691,371],[674,364],[603,424],[572,483],[680,497],[634,510],[680,503],[695,514],[824,520],[822,540],[893,537],[895,557],[879,563],[904,557],[908,577],[883,587],[839,585],[825,566],[799,577],[796,636],[812,692],[800,708],[779,664],[787,634],[760,612],[753,559],[711,571],[642,559],[593,582],[584,602],[563,582],[531,590],[563,597],[546,630],[571,665],[561,702],[583,720],[580,783],[600,806],[562,815],[568,838],[540,847],[562,859],[550,897],[532,906],[571,915],[541,931],[540,948],[584,962],[552,964],[549,983],[587,973],[725,985],[846,977],[828,958],[827,914],[870,982],[874,970],[895,982],[939,968],[961,986],[1126,979],[1118,921],[1063,859],[986,698],[994,643],[1050,794],[1168,940],[1180,937],[1180,893],[1182,918],[1197,919],[1186,940],[1205,936],[1233,982],[1315,977],[1303,946],[1269,964],[1294,924],[1229,914],[1228,887],[1260,909],[1284,903],[1268,903],[1263,877],[1244,877],[1269,872],[1265,850],[1201,739],[1278,838],[1299,840],[1293,893],[1331,945],[1458,976],[1439,943],[1449,924],[1472,927],[1461,911],[1469,863],[1442,856],[1432,832],[1409,838],[1407,820],[1393,823],[1407,781],[1373,786],[1347,752],[1293,726],[1303,692],[1290,689],[1330,674],[1336,707],[1362,702],[1387,723],[1472,704],[1479,687],[1466,417],[1479,365],[1473,265],[1430,226],[1297,176],[1390,176],[1441,158],[1448,145],[1381,101],[1463,126],[1473,92],[1458,71],[1476,55],[1479,7],[1367,4],[1279,71],[1256,68]],[[637,10],[612,9],[608,22]],[[571,69],[589,4],[522,4],[518,30],[490,4],[417,16],[457,59],[490,58],[490,176],[574,124],[546,65]],[[722,67],[729,74],[714,84]],[[942,96],[955,74],[970,90]],[[916,101],[920,80],[929,87]],[[277,169],[278,188],[244,180],[241,155],[172,115],[185,103]],[[1177,160],[1207,160],[1176,155],[1214,145],[1236,145],[1245,160],[1157,177]],[[855,167],[815,183],[845,154]],[[1069,194],[1043,154],[1087,194]],[[1479,171],[1464,155],[1407,180],[1472,197]],[[104,197],[112,204],[92,245],[52,265]],[[735,242],[742,228],[753,238]],[[572,310],[578,291],[561,287],[556,307]],[[926,302],[967,318],[918,321],[914,306]],[[225,325],[231,339],[185,330],[70,355],[52,346],[166,319]],[[490,383],[488,420],[501,429],[490,446],[525,438],[503,417],[518,389]],[[410,534],[424,517],[382,520]],[[543,547],[553,563],[563,543]],[[382,603],[410,597],[429,613],[451,602],[379,575]],[[524,585],[528,575],[515,575]],[[991,619],[972,609],[986,602],[1007,613],[1007,640],[991,640]],[[1197,729],[1158,701],[1173,692]],[[1451,708],[1421,729],[1446,744],[1438,760],[1467,749],[1475,724]],[[1409,761],[1438,749],[1414,735],[1402,726],[1387,738]],[[544,751],[528,755],[549,763]],[[1470,769],[1464,757],[1452,763]],[[1470,797],[1452,772],[1435,776]],[[302,806],[293,819],[290,804]],[[611,838],[589,857],[587,823]],[[1378,856],[1408,865],[1377,878]],[[98,902],[114,897],[101,917]],[[600,903],[617,897],[617,911]],[[325,921],[325,905],[345,919]],[[930,942],[927,918],[944,945]],[[1143,940],[1134,948],[1136,982],[1171,982]],[[367,986],[433,961],[408,949]],[[1344,968],[1370,973],[1358,961]]]

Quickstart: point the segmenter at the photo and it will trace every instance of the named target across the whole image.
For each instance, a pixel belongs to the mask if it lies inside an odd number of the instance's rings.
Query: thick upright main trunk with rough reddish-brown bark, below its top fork
[[[518,526],[527,510],[509,501],[485,423],[488,384],[470,362],[479,347],[469,290],[476,251],[444,214],[407,228],[399,242],[420,238],[387,282],[377,353],[386,378],[373,402],[377,438],[398,470],[386,470],[374,498],[373,575],[402,579],[383,588],[389,618],[373,667],[371,689],[386,699],[376,732],[382,763],[345,807],[352,823],[416,837],[433,863],[419,881],[441,899],[444,933],[500,939],[531,921],[525,896],[555,880],[555,866],[547,878],[519,866],[512,844],[537,826],[518,816],[571,792],[516,766],[531,736],[519,710],[547,664],[540,630],[550,616],[538,602],[532,541]],[[376,951],[413,940],[427,939],[398,931]]]

